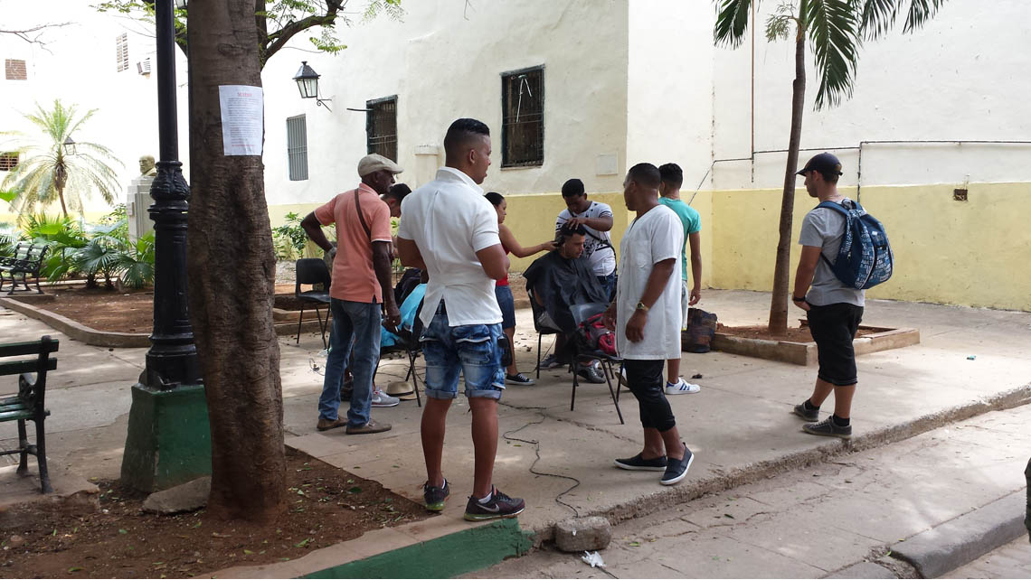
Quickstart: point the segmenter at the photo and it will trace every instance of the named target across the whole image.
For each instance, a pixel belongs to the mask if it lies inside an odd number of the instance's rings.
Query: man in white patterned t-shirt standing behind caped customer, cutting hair
[[[594,275],[598,276],[601,287],[611,300],[616,289],[616,250],[608,238],[608,231],[612,229],[612,208],[587,199],[584,182],[579,179],[569,179],[562,184],[562,201],[566,202],[566,209],[555,220],[555,233],[558,235],[563,226],[584,226],[587,230],[584,257],[590,261]]]

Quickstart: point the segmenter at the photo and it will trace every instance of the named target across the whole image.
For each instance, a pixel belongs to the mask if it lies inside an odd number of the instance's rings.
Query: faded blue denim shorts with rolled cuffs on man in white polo
[[[459,373],[465,376],[465,396],[501,399],[505,374],[501,368],[501,325],[447,326],[443,302],[423,330],[426,359],[426,396],[433,399],[458,397]]]

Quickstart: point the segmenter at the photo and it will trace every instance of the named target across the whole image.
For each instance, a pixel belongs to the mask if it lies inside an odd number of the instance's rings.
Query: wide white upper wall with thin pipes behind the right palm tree
[[[776,3],[763,3],[765,23]],[[814,111],[819,87],[812,53],[806,53],[804,147],[857,147],[864,140],[1031,140],[1031,52],[1026,26],[1031,2],[950,0],[934,20],[903,35],[901,22],[888,37],[860,49],[855,94],[835,108]],[[901,21],[901,18],[900,18]],[[757,31],[757,150],[784,149],[791,126],[794,44],[768,43]],[[716,53],[714,157],[750,157],[751,44]],[[803,151],[800,163],[816,151]],[[836,151],[842,183],[857,183],[858,149]],[[1029,145],[868,144],[862,184],[1031,181]],[[756,156],[718,163],[714,189],[779,187],[786,156]]]

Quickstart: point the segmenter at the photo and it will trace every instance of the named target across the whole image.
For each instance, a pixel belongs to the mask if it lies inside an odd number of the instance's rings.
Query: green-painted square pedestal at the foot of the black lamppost
[[[132,387],[122,482],[157,491],[211,474],[211,430],[204,385]]]

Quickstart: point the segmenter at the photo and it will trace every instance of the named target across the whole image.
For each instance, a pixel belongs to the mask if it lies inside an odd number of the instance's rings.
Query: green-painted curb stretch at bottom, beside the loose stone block
[[[302,578],[452,578],[525,554],[533,546],[532,536],[517,519],[502,519]]]

